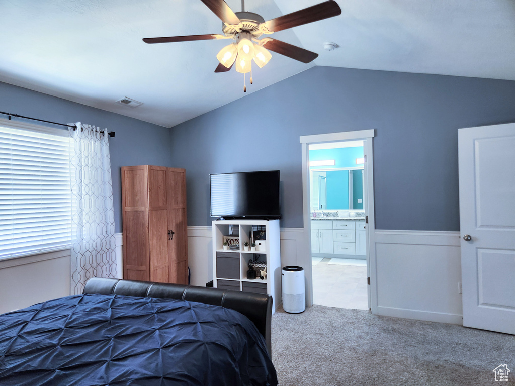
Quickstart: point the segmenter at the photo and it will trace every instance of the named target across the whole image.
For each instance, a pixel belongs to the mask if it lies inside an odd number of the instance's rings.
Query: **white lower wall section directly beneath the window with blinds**
[[[0,313],[70,295],[70,250],[0,261]]]

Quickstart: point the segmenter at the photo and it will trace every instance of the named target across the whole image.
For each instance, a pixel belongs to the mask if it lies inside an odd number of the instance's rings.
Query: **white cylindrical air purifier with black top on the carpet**
[[[283,310],[290,313],[303,312],[306,309],[306,287],[304,268],[288,266],[281,270],[283,290]]]

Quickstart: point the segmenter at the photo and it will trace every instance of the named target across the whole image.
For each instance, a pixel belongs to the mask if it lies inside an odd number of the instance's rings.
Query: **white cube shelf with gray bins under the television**
[[[281,246],[279,220],[214,220],[213,221],[213,287],[267,293],[272,295],[272,312],[281,304]],[[256,227],[266,234],[264,250],[244,251],[250,232]],[[239,235],[239,250],[224,250],[224,236]],[[256,244],[259,240],[256,241]],[[250,248],[249,248],[250,249]],[[248,261],[259,254],[266,261],[267,277],[247,279]]]

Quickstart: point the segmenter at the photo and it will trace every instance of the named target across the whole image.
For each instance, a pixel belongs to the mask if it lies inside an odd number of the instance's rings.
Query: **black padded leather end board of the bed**
[[[230,291],[218,288],[183,286],[138,282],[136,280],[104,279],[94,277],[88,280],[82,293],[111,293],[128,296],[167,297],[231,308],[243,313],[258,327],[265,337],[268,354],[271,356],[272,296]]]

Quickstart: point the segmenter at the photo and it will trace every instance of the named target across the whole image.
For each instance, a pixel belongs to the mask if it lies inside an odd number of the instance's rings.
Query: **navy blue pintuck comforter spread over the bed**
[[[228,308],[84,294],[0,315],[0,385],[277,385],[264,338]]]

